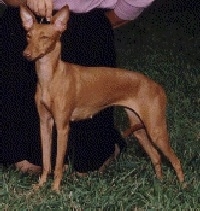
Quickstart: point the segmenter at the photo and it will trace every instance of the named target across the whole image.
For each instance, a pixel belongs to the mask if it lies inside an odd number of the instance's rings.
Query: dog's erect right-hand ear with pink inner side
[[[62,7],[52,18],[51,23],[54,24],[55,29],[59,32],[63,32],[67,28],[67,22],[69,19],[69,7],[68,5]]]

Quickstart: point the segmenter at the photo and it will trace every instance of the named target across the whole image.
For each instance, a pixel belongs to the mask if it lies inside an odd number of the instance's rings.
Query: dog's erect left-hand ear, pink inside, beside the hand
[[[35,21],[35,16],[26,6],[20,5],[20,16],[22,19],[23,27],[26,30],[29,30]]]

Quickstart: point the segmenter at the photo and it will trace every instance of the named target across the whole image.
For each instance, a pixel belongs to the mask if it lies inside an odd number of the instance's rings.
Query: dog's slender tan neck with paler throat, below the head
[[[61,43],[56,42],[55,48],[36,61],[36,71],[40,85],[48,84],[61,62]]]

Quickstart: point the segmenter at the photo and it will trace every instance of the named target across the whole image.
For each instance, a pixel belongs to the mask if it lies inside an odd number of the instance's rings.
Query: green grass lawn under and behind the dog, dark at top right
[[[190,10],[174,13],[170,2],[156,8],[116,30],[118,66],[143,72],[165,88],[171,145],[187,187],[165,158],[158,181],[149,158],[129,138],[127,150],[104,175],[73,179],[65,173],[60,195],[50,191],[52,178],[35,193],[31,185],[38,175],[1,166],[0,210],[200,210],[200,26]],[[125,120],[117,110],[120,128]]]

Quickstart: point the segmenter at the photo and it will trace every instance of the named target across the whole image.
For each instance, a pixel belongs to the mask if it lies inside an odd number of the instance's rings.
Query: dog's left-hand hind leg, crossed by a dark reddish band
[[[162,178],[161,158],[160,155],[158,154],[157,149],[152,145],[149,137],[147,136],[146,130],[144,129],[144,125],[139,119],[139,117],[130,109],[126,109],[126,113],[128,115],[130,128],[132,128],[130,129],[130,131],[138,139],[139,143],[142,145],[146,153],[149,155],[154,165],[156,176],[158,179],[161,179]]]

